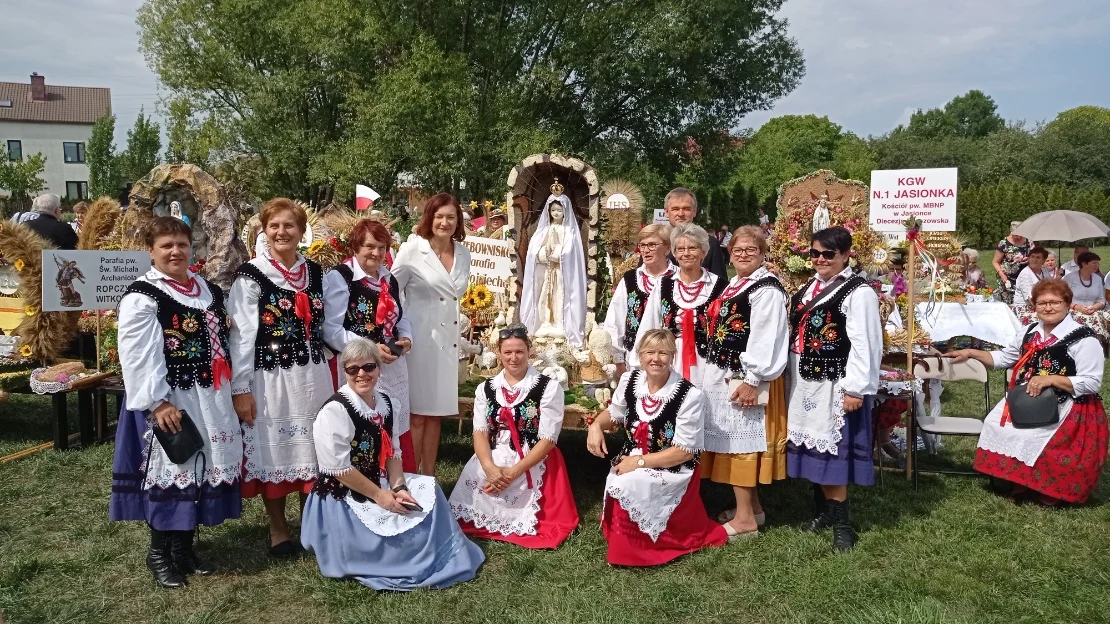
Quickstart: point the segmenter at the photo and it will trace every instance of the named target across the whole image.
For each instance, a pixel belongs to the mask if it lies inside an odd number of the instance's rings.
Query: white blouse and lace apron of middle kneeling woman
[[[497,404],[503,407],[514,407],[527,399],[528,393],[543,375],[535,368],[528,366],[527,374],[514,385],[508,385],[505,381],[505,372],[497,373],[491,380],[493,389],[497,395]],[[490,423],[486,421],[488,403],[486,402],[485,384],[478,385],[474,391],[474,431],[490,431]],[[507,386],[509,391],[518,390],[519,395],[513,402],[507,402],[502,392],[502,388]],[[531,407],[529,407],[531,409]],[[543,397],[539,401],[539,426],[537,437],[539,440],[551,440],[558,442],[558,434],[563,430],[563,390],[555,380],[549,380],[544,389]],[[532,447],[522,440],[522,450],[527,455]],[[497,436],[497,445],[492,450],[493,463],[498,466],[512,467],[521,461],[521,456],[513,449],[512,434],[507,430],[502,430]],[[462,474],[455,484],[455,490],[451,493],[451,511],[458,520],[467,521],[477,529],[484,529],[491,533],[502,535],[535,535],[538,523],[536,514],[539,513],[544,485],[544,472],[547,460],[544,459],[531,470],[528,475],[521,475],[508,487],[496,494],[486,494],[482,487],[488,483],[485,471],[478,456],[471,455],[466,465],[463,466]],[[528,477],[532,485],[528,485]]]

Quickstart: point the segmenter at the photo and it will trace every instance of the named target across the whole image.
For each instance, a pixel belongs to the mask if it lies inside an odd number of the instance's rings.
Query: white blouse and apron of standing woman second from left
[[[270,252],[249,262],[279,289],[294,290],[270,264]],[[304,258],[297,255],[290,269],[297,271]],[[307,268],[305,269],[307,272]],[[295,363],[284,369],[254,368],[254,340],[259,333],[259,298],[262,289],[254,280],[236,275],[231,284],[228,312],[231,314],[232,392],[254,394],[255,420],[243,424],[245,471],[243,481],[284,483],[311,481],[316,477],[316,453],[312,444],[312,425],[321,405],[334,392],[332,372],[326,356],[319,363],[309,360],[304,366]],[[344,310],[329,305],[330,288],[323,283],[324,342],[342,340]],[[325,354],[326,355],[326,354]]]

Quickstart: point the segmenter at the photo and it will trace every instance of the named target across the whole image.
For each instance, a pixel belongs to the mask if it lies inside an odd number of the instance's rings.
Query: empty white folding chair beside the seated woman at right
[[[914,376],[919,380],[940,380],[944,382],[961,382],[961,381],[975,381],[983,384],[983,411],[979,416],[975,415],[959,415],[959,416],[929,416],[924,414],[918,414],[916,417],[910,419],[912,426],[910,431],[907,432],[906,449],[914,449],[914,487],[917,487],[918,474],[920,469],[918,467],[917,461],[917,430],[919,429],[922,433],[932,435],[975,435],[978,436],[982,433],[982,419],[990,413],[990,385],[987,378],[987,368],[982,365],[982,362],[978,360],[968,360],[966,362],[952,362],[948,358],[940,356],[928,356],[921,358],[914,364]],[[916,411],[916,405],[915,405]],[[936,455],[936,447],[934,447],[932,453]],[[935,470],[929,472],[936,472],[941,474],[967,474],[977,475],[977,472],[969,471],[942,471]]]

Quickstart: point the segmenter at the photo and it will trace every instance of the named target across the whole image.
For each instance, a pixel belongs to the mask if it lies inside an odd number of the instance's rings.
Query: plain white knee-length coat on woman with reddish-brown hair
[[[401,245],[391,269],[412,323],[408,362],[410,410],[425,416],[458,413],[458,300],[466,292],[471,252],[455,243],[451,273],[421,236]]]

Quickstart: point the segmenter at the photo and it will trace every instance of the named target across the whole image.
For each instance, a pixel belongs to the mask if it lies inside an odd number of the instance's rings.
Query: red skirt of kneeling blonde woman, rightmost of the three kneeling
[[[609,548],[605,560],[613,565],[662,565],[706,546],[728,543],[725,527],[709,519],[702,504],[700,466],[686,487],[686,494],[670,514],[667,529],[655,542],[639,530],[616,500],[605,497],[602,533]]]

